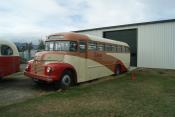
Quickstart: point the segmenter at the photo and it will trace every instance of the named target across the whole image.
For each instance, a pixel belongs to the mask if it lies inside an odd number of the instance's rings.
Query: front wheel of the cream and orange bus
[[[70,71],[65,71],[60,81],[55,82],[55,88],[67,89],[73,85],[73,77]]]

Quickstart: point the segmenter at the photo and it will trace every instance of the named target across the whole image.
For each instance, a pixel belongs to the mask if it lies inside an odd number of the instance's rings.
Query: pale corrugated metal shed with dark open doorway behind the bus
[[[75,31],[103,37],[106,31],[137,29],[137,66],[175,69],[175,19]]]

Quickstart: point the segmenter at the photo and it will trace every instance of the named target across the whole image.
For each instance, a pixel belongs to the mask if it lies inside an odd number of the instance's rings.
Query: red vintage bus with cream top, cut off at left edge
[[[14,43],[0,39],[0,78],[20,70],[20,56]]]

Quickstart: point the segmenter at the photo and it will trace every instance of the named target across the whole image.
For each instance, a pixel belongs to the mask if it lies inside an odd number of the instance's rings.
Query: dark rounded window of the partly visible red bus
[[[1,55],[13,55],[13,50],[7,45],[1,45]]]

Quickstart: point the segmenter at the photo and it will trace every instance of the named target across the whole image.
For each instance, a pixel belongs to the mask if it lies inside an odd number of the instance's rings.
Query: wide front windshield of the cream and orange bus
[[[46,51],[77,51],[76,41],[48,41],[45,46]]]

